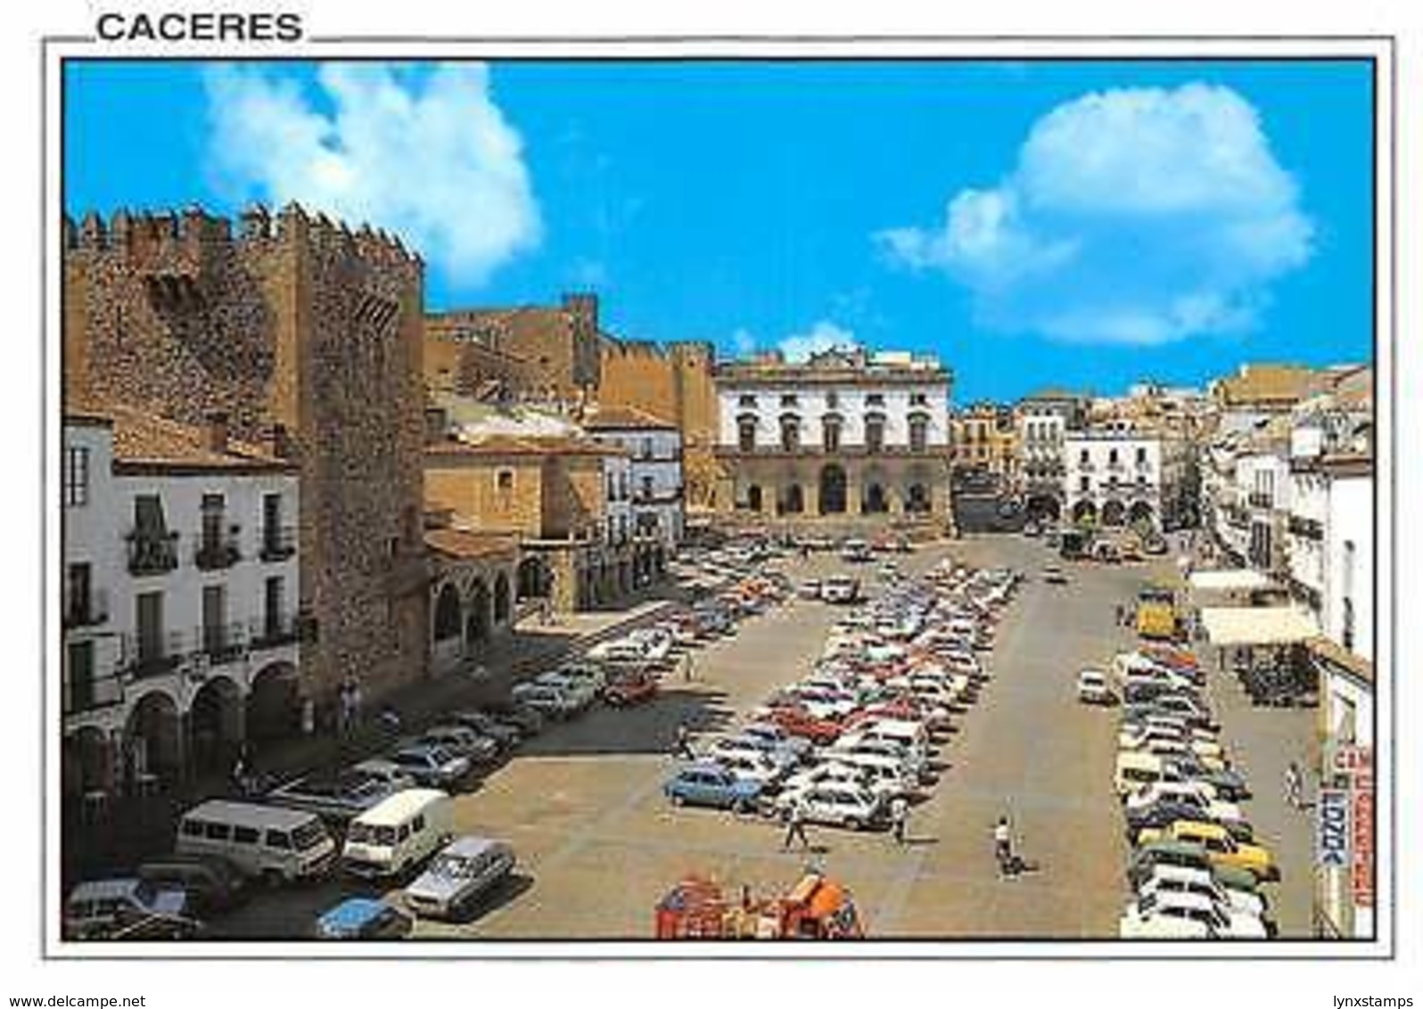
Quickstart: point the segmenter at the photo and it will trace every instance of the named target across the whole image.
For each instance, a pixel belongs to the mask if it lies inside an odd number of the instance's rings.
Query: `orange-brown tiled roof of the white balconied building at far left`
[[[297,471],[296,463],[250,441],[228,438],[225,451],[213,451],[205,427],[137,407],[70,398],[64,404],[64,418],[107,421],[114,430],[115,468]]]

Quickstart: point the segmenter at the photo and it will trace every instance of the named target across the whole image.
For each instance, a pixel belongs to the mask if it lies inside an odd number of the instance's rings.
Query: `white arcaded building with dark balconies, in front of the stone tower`
[[[102,805],[290,730],[297,467],[127,407],[65,413],[65,794]]]

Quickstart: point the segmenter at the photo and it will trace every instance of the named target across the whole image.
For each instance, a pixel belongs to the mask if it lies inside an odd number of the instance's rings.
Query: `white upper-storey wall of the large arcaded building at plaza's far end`
[[[827,406],[827,393],[837,397],[835,410]],[[795,396],[795,406],[781,406],[781,397]],[[869,396],[882,396],[884,406],[869,406]],[[741,406],[741,397],[754,397],[756,407]],[[911,406],[911,397],[924,396],[922,406]],[[743,414],[756,414],[756,447],[778,448],[781,444],[781,414],[793,413],[800,417],[800,443],[807,451],[822,448],[821,418],[827,413],[838,413],[844,421],[841,426],[841,444],[847,447],[861,447],[865,444],[867,413],[881,413],[885,417],[885,444],[889,447],[908,447],[909,444],[909,414],[924,413],[929,417],[926,428],[926,443],[933,447],[949,444],[949,389],[946,383],[922,384],[803,384],[803,386],[737,386],[734,383],[717,383],[717,411],[719,438],[721,445],[734,447],[740,441],[737,420]]]

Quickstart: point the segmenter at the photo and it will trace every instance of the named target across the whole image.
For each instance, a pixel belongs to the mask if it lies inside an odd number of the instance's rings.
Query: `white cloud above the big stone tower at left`
[[[317,83],[320,105],[290,78],[208,74],[212,167],[233,198],[370,222],[462,283],[538,245],[524,144],[484,64],[327,63]]]

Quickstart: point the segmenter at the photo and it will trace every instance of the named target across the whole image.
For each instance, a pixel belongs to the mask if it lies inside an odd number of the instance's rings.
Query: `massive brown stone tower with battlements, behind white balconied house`
[[[233,437],[300,468],[302,692],[373,699],[427,660],[424,265],[289,205],[238,233],[201,209],[64,221],[64,391]]]

